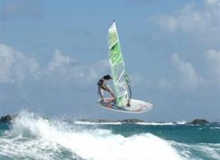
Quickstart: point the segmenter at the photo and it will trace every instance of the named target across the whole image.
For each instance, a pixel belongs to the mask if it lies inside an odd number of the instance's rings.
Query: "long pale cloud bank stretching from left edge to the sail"
[[[33,57],[26,56],[10,46],[0,44],[0,83],[22,83],[27,78],[38,81],[70,82],[78,84],[94,83],[103,74],[110,71],[108,60],[93,64],[83,64],[64,55],[58,49],[48,61],[47,67]]]

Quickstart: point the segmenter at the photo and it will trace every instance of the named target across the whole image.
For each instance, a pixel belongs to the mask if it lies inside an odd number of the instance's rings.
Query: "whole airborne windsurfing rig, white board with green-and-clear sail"
[[[101,107],[118,112],[143,113],[150,111],[153,108],[153,104],[131,99],[130,80],[125,70],[125,63],[115,21],[113,21],[113,24],[108,29],[108,49],[116,100],[108,97],[105,98],[104,101],[99,99],[97,103],[100,104]]]

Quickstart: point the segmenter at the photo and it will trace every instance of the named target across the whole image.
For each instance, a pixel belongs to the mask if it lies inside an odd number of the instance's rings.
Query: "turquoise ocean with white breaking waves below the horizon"
[[[220,160],[220,123],[95,123],[21,112],[0,123],[0,160]]]

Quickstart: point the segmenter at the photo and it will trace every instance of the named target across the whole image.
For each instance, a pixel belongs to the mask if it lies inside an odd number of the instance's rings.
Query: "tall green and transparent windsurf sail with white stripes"
[[[118,106],[126,106],[131,99],[129,78],[125,72],[125,63],[122,56],[116,23],[113,21],[108,30],[109,62],[111,66],[113,83],[115,86]]]

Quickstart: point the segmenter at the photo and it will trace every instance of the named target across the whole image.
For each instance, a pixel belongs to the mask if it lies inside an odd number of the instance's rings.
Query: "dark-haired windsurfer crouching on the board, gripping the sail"
[[[112,77],[110,75],[105,75],[98,81],[98,94],[100,95],[102,101],[104,101],[103,91],[107,91],[111,94],[111,96],[116,100],[114,93],[111,88],[107,85],[107,81],[111,80]]]

